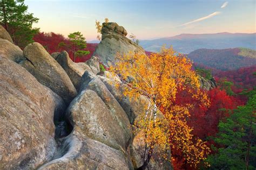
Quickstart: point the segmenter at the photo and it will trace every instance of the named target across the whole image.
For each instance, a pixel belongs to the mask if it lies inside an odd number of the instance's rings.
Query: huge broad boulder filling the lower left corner
[[[0,169],[35,169],[56,151],[53,115],[63,100],[25,68],[0,56]]]

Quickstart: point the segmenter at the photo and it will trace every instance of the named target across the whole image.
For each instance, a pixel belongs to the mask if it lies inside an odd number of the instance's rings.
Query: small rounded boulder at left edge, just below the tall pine
[[[1,25],[0,25],[1,26]],[[21,48],[12,44],[10,41],[0,38],[0,55],[9,58],[17,63],[25,60]]]

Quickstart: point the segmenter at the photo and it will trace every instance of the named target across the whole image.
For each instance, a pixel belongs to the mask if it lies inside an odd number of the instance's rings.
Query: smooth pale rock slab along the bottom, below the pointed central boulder
[[[87,138],[79,127],[65,140],[63,146],[68,152],[63,157],[52,160],[42,169],[133,169],[121,151],[99,141]]]

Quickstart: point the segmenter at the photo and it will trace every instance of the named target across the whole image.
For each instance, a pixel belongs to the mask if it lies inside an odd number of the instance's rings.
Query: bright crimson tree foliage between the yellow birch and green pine
[[[228,96],[225,90],[219,88],[207,91],[207,95],[211,102],[209,108],[200,106],[198,101],[186,92],[178,93],[176,100],[176,104],[179,105],[194,104],[195,107],[190,110],[191,117],[188,117],[188,125],[193,128],[194,136],[204,141],[218,132],[218,124],[221,119],[229,116],[229,109],[232,110],[243,104],[237,97]],[[210,146],[213,141],[207,143]],[[172,149],[172,164],[174,169],[193,169],[185,162],[183,153],[178,149]]]

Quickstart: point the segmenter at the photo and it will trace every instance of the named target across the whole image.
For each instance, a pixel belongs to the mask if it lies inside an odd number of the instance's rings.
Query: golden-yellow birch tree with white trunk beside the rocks
[[[170,138],[194,166],[205,159],[208,147],[200,139],[196,144],[192,142],[192,129],[184,121],[185,117],[190,116],[188,110],[193,105],[174,104],[178,89],[186,90],[187,87],[190,89],[188,93],[201,104],[210,104],[206,94],[200,91],[198,76],[191,68],[191,61],[172,48],[163,47],[161,52],[150,56],[139,53],[116,56],[116,64],[110,71],[118,74],[122,82],[128,85],[124,95],[133,99],[144,95],[150,101],[145,107],[146,112],[136,122],[138,130],[145,134],[144,164],[140,169],[147,167],[155,147],[166,150]],[[163,157],[166,158],[166,155]]]

